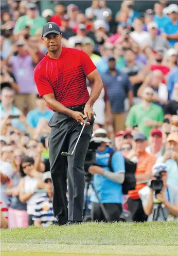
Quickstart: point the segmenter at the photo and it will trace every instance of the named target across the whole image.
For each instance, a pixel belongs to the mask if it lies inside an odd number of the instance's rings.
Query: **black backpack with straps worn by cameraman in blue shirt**
[[[110,156],[108,159],[108,165],[106,166],[101,166],[101,167],[109,167],[110,171],[114,172],[113,167],[112,167],[112,156],[116,152],[115,150],[111,149],[110,151]],[[135,189],[136,186],[136,179],[135,179],[135,171],[136,171],[136,164],[130,161],[128,158],[124,157],[124,162],[125,162],[125,178],[124,182],[122,183],[122,193],[123,195],[127,195],[129,190]]]

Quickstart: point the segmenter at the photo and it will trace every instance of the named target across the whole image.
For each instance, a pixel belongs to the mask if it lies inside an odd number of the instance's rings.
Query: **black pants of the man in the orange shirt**
[[[148,216],[145,214],[141,199],[131,199],[127,201],[129,211],[132,214],[133,221],[144,222],[147,221]]]

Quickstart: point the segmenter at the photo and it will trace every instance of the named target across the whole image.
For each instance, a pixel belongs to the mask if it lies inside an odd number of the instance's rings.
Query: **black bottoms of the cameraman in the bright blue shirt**
[[[122,213],[121,203],[103,203],[103,205],[110,221],[120,221],[120,214]],[[99,203],[92,203],[91,217],[92,220],[106,221]]]

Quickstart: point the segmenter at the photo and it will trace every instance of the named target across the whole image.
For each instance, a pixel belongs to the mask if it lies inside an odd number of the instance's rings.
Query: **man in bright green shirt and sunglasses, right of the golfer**
[[[152,103],[153,94],[153,89],[146,87],[141,97],[141,103],[132,106],[126,120],[128,130],[137,124],[140,132],[144,133],[147,138],[152,128],[162,126],[164,119],[163,109]]]

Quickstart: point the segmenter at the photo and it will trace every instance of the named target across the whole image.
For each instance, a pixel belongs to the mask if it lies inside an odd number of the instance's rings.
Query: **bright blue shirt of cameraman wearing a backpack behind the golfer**
[[[106,148],[103,152],[96,153],[96,163],[98,165],[108,165],[112,148]],[[114,172],[125,172],[124,157],[121,152],[116,151],[112,156],[112,168]],[[106,171],[111,171],[109,167],[102,167]],[[100,174],[94,175],[94,186],[102,203],[122,203],[122,185],[111,181]],[[98,199],[93,191],[91,201],[98,203]]]

